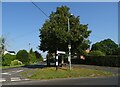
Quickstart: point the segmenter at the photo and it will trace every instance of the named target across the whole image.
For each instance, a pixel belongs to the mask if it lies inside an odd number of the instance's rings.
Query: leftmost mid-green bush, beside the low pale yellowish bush
[[[11,61],[15,60],[16,56],[11,54],[5,54],[2,58],[2,65],[3,66],[9,66],[11,64]]]

